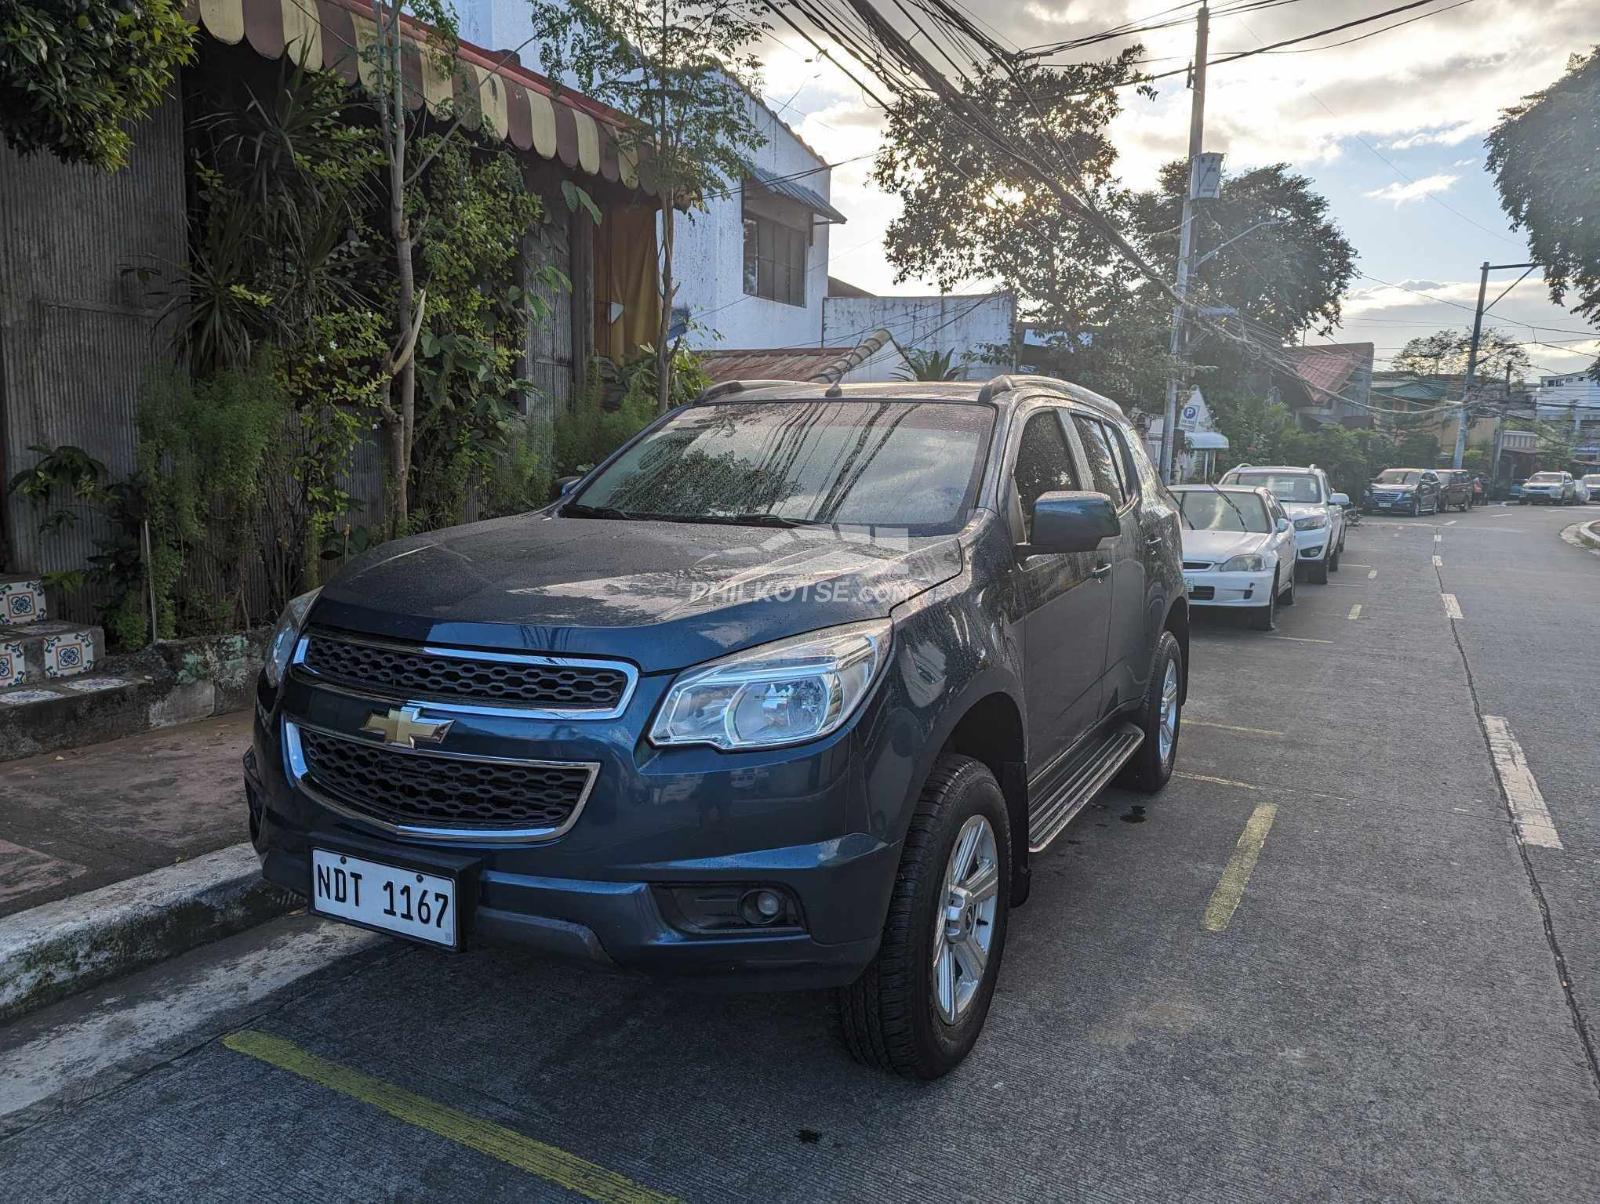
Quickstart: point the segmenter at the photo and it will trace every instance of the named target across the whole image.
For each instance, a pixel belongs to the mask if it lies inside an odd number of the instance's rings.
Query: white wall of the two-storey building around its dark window
[[[528,38],[530,0],[456,0],[461,37],[486,50],[517,50]],[[534,46],[522,46],[523,66],[541,70]],[[750,118],[766,136],[766,144],[750,159],[757,167],[781,176],[808,173],[797,184],[829,200],[829,171],[766,106],[750,101]],[[806,255],[806,303],[744,295],[744,203],[742,181],[730,181],[728,195],[710,197],[706,210],[678,215],[674,275],[678,290],[675,307],[688,307],[690,319],[706,330],[688,339],[694,347],[816,347],[822,341],[822,298],[827,293],[829,226],[814,224]]]

